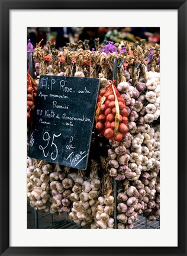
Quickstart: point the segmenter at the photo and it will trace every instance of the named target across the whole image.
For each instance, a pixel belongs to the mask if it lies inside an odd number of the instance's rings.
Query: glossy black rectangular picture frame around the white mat
[[[0,253],[1,255],[187,255],[186,249],[186,30],[187,3],[178,0],[76,1],[0,0]],[[178,247],[10,247],[9,246],[9,10],[177,9],[178,10]],[[167,86],[167,85],[166,85]],[[175,105],[175,103],[173,102]],[[171,185],[172,190],[172,185]],[[170,206],[169,210],[172,210]],[[172,225],[172,223],[170,223]],[[18,231],[19,232],[19,231]],[[167,238],[166,238],[167,239]]]

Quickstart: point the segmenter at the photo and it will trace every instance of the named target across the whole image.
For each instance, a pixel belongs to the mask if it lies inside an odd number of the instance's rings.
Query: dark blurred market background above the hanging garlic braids
[[[128,40],[129,43],[135,43],[140,39],[146,39],[150,46],[160,43],[159,27],[28,27],[27,35],[34,47],[44,39],[41,46],[44,46],[47,40],[56,41],[56,49],[59,50],[62,50],[66,43],[85,39],[89,40],[89,47],[92,49],[97,37],[100,43],[104,40],[114,43]]]

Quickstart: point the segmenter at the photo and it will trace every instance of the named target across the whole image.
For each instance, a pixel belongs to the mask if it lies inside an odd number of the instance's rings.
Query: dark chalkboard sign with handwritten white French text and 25
[[[28,155],[86,169],[98,78],[40,76]]]

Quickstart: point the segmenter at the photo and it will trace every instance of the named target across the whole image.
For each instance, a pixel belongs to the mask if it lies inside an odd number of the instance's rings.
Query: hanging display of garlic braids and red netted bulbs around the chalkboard
[[[40,75],[91,77],[100,78],[100,90],[88,168],[28,157],[27,196],[31,207],[67,212],[84,228],[132,229],[138,215],[160,215],[160,46],[96,39],[89,50],[88,44],[69,43],[59,52],[48,41],[45,49],[40,43],[34,49],[36,84]],[[36,84],[28,81],[28,107],[34,106]]]

